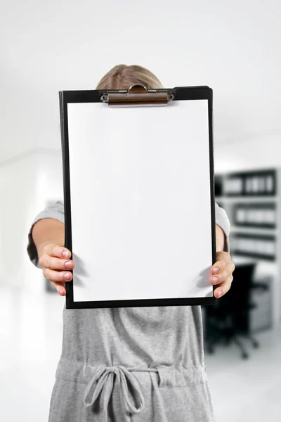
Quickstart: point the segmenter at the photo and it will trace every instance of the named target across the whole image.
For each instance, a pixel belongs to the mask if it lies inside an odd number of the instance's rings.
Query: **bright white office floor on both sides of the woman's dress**
[[[37,289],[0,294],[1,421],[47,422],[65,299]],[[281,421],[281,326],[256,338],[261,347],[249,344],[247,361],[236,345],[206,354],[217,422]]]

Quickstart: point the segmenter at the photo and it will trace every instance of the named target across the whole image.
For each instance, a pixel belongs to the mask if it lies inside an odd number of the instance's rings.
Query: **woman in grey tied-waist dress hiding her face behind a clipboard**
[[[162,88],[141,66],[119,65],[97,89]],[[216,298],[233,280],[230,224],[216,204]],[[62,296],[72,279],[64,248],[64,207],[35,217],[27,252]],[[63,350],[49,422],[211,422],[214,412],[204,366],[200,306],[63,309]]]

